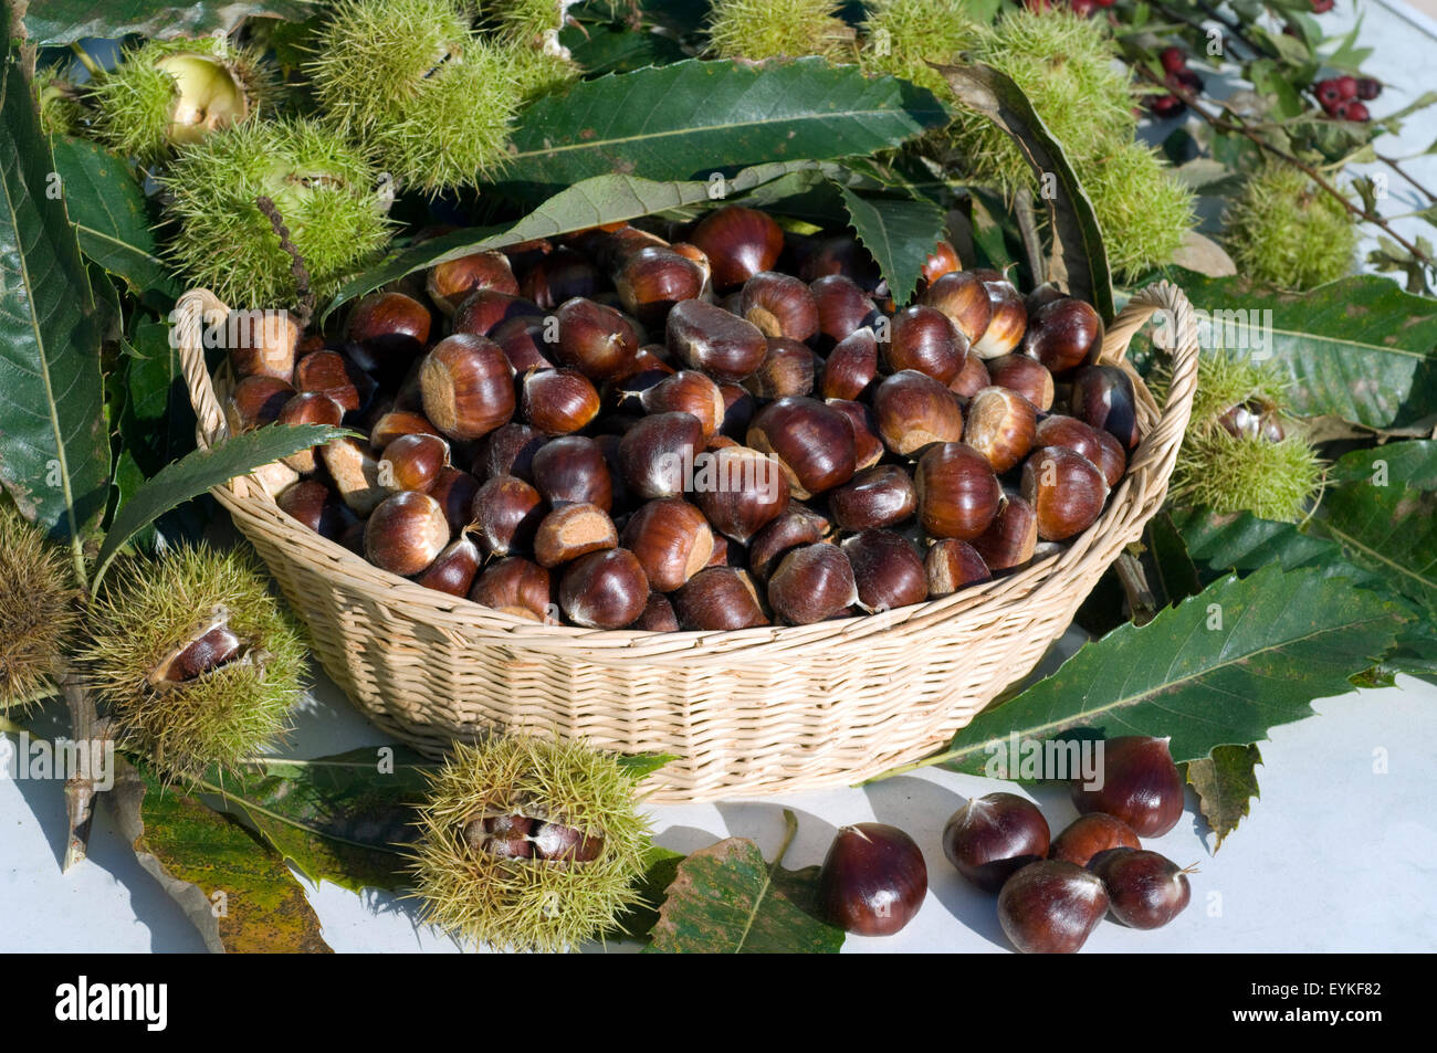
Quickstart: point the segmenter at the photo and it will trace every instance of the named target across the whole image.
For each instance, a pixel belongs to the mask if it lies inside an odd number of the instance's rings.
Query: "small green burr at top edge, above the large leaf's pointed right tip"
[[[946,95],[947,83],[928,63],[951,63],[979,39],[977,24],[953,0],[872,0],[862,26],[859,60]]]

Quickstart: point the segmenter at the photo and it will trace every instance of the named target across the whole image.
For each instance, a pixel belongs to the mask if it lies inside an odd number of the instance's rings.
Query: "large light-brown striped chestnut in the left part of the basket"
[[[420,361],[424,415],[445,437],[483,438],[514,415],[513,369],[493,340],[454,333]]]

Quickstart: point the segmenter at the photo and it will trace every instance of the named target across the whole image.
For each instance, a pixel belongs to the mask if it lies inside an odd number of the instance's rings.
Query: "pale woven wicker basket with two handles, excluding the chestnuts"
[[[1104,359],[1160,312],[1168,405],[1132,374],[1144,440],[1098,523],[1059,555],[951,596],[881,615],[736,632],[539,625],[371,566],[300,526],[254,476],[214,490],[309,625],[325,671],[387,733],[437,756],[494,727],[668,753],[652,800],[852,783],[948,740],[1056,639],[1099,575],[1161,507],[1191,409],[1197,329],[1183,293],[1151,286],[1108,329]],[[228,434],[203,326],[211,293],[180,302],[181,362],[208,448]],[[1131,366],[1124,363],[1131,372]]]

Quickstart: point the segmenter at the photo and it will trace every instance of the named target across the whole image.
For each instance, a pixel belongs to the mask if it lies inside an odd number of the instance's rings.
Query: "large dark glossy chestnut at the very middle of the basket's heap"
[[[800,500],[842,486],[856,468],[854,425],[812,398],[769,402],[749,425],[747,444],[777,460]]]

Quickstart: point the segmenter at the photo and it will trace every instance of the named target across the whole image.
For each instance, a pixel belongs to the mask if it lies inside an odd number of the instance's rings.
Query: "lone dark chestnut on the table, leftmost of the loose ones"
[[[912,921],[928,894],[928,868],[912,838],[887,823],[845,826],[818,876],[823,915],[845,932],[888,937]]]

